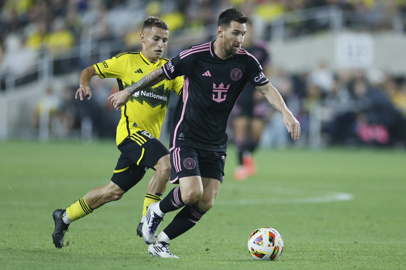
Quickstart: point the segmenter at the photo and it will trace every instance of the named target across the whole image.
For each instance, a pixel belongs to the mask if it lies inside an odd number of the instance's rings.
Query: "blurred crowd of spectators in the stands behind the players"
[[[167,21],[172,39],[216,24],[220,10],[236,6],[262,24],[257,36],[269,41],[272,35],[266,34],[270,32],[267,27],[284,14],[290,12],[300,17],[302,10],[328,5],[342,11],[347,18],[345,26],[354,30],[405,32],[406,29],[404,0],[1,0],[0,91],[5,91],[7,76],[11,74],[16,85],[38,79],[38,73],[30,70],[45,53],[51,52],[55,59],[53,75],[80,72],[99,62],[100,55],[78,53],[89,38],[97,44],[112,42],[117,46],[117,51],[105,59],[121,51],[140,50],[139,32],[147,15]],[[326,30],[326,21],[306,20],[289,26],[288,36]],[[175,49],[166,57],[171,58],[190,45],[190,42],[173,45]],[[272,57],[272,48],[270,54]],[[92,91],[97,93],[85,103],[73,99],[76,83],[58,93],[48,87],[38,103],[37,113],[33,114],[33,126],[39,126],[39,111],[46,108],[58,119],[54,125],[61,136],[83,129],[83,117],[88,116],[96,135],[114,137],[119,114],[109,106],[107,97],[117,91],[117,86],[101,81],[92,80]],[[406,146],[404,74],[363,69],[333,71],[328,63],[320,62],[316,69],[298,73],[273,66],[270,81],[300,121],[303,137],[309,136],[309,115],[315,113],[315,108],[323,108],[329,115],[321,127],[326,144]],[[263,144],[287,144],[281,117],[274,113],[269,117]]]

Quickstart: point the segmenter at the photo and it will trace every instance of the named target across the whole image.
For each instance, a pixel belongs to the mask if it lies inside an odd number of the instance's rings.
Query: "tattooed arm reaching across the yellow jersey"
[[[165,79],[165,75],[162,69],[155,69],[148,75],[145,75],[142,79],[137,81],[135,84],[128,86],[122,91],[116,92],[109,96],[108,99],[111,101],[111,105],[118,111],[121,107],[125,105],[130,100],[130,97],[137,91],[144,88],[158,84],[160,81]]]

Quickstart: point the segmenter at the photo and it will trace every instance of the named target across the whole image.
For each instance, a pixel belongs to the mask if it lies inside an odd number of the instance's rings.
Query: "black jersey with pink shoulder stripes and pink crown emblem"
[[[246,50],[240,48],[223,60],[214,54],[213,43],[192,46],[162,66],[169,80],[185,76],[171,123],[171,150],[191,146],[226,151],[227,120],[246,82],[269,83],[258,60]]]

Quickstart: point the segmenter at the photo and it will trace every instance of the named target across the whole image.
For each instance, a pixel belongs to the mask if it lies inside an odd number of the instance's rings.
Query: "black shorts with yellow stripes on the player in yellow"
[[[121,151],[111,181],[123,191],[129,191],[144,177],[148,168],[153,169],[168,149],[146,131],[137,131],[118,146]]]

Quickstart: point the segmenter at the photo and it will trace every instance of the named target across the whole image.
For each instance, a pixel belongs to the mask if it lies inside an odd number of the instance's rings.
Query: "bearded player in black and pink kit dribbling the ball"
[[[241,48],[248,18],[235,8],[218,18],[215,41],[182,51],[124,91],[109,99],[120,109],[138,90],[162,79],[184,75],[183,92],[171,124],[171,182],[179,186],[159,203],[148,207],[143,238],[154,256],[178,258],[169,241],[185,233],[212,208],[224,178],[227,151],[227,120],[247,81],[283,114],[292,139],[300,135],[299,122],[287,109],[278,90],[263,75],[261,65]],[[160,222],[168,212],[181,209],[158,235]]]

